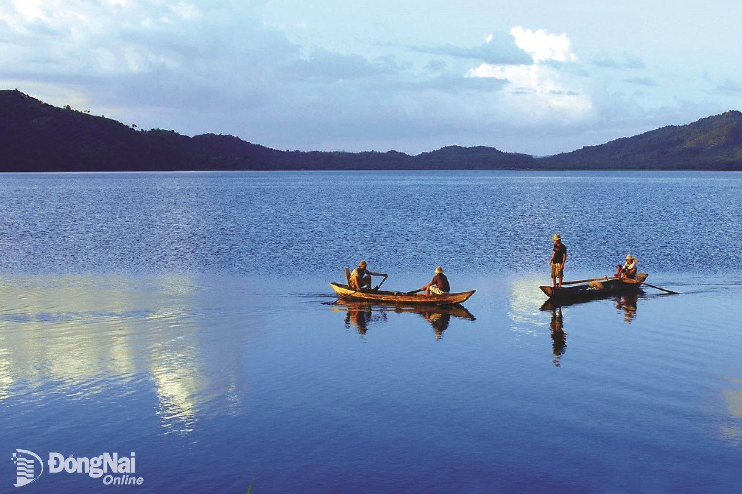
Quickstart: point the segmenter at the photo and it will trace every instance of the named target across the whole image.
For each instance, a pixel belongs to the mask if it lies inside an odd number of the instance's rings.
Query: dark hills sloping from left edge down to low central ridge
[[[401,170],[536,168],[527,154],[450,146],[409,156],[278,151],[234,136],[141,131],[0,90],[0,171]]]

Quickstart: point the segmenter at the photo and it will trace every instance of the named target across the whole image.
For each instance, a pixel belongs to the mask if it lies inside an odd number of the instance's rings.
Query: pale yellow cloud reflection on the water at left
[[[200,415],[229,412],[246,387],[240,323],[204,298],[183,275],[6,278],[0,402],[152,389],[162,427],[191,432]]]

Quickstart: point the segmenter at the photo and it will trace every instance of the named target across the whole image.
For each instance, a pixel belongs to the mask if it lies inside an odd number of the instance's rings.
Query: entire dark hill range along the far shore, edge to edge
[[[47,105],[18,90],[0,90],[0,171],[464,169],[742,171],[742,113],[727,111],[550,157],[485,146],[448,146],[410,156],[278,151],[229,135],[142,131]]]

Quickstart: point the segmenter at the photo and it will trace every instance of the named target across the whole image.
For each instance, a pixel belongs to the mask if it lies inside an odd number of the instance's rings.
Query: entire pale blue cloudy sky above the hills
[[[554,154],[741,109],[742,3],[0,0],[0,87],[278,149]]]

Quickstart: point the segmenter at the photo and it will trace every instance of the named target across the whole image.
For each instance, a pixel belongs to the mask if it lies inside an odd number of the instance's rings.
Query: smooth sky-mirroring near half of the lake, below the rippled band
[[[206,487],[214,464],[193,459],[214,449],[228,490],[252,478],[268,491],[462,492],[741,479],[742,317],[728,283],[550,306],[505,278],[476,285],[465,309],[332,303],[321,283],[282,286],[7,278],[2,437],[68,454],[131,449],[152,490],[189,485],[183,461]],[[445,468],[415,459],[435,451]]]

